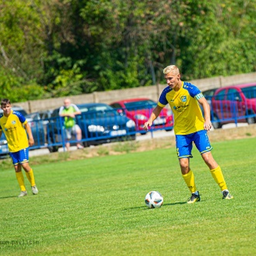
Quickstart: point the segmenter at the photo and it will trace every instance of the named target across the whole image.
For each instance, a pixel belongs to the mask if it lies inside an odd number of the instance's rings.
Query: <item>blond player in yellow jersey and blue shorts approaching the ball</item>
[[[188,204],[200,201],[194,173],[189,166],[189,159],[193,157],[191,155],[193,142],[201,153],[205,164],[209,167],[213,179],[219,185],[222,198],[232,199],[233,196],[228,191],[220,166],[216,163],[211,153],[212,147],[207,136],[207,131],[212,127],[209,104],[195,85],[180,80],[178,67],[175,65],[167,66],[164,68],[163,73],[168,86],[159,97],[156,108],[144,124],[144,129],[148,130],[164,106],[169,103],[174,115],[174,133],[181,173],[191,192]],[[198,102],[204,109],[204,117]]]

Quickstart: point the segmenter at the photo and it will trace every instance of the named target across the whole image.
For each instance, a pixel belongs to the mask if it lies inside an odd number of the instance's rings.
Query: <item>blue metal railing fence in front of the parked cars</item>
[[[211,107],[211,120],[214,128],[220,128],[223,124],[247,122],[256,123],[256,90],[245,90],[243,93],[228,93],[212,96],[208,99]],[[82,140],[85,146],[97,145],[118,140],[135,140],[136,134],[145,133],[142,125],[152,112],[152,108],[145,107],[143,116],[139,110],[132,109],[132,116],[127,114],[131,109],[123,109],[122,114],[116,110],[107,112],[82,113],[76,116],[76,124],[82,130]],[[128,112],[127,112],[128,111]],[[126,113],[127,112],[127,113]],[[129,113],[130,113],[129,112]],[[165,113],[166,115],[166,113]],[[130,119],[128,117],[130,117]],[[151,136],[156,130],[172,130],[172,117],[160,117],[150,128]],[[44,120],[30,122],[35,145],[31,149],[49,148],[57,151],[59,147],[65,148],[65,129],[62,117],[52,117]],[[70,143],[76,144],[76,136],[73,135]],[[0,139],[0,157],[8,154],[8,147],[4,135]]]

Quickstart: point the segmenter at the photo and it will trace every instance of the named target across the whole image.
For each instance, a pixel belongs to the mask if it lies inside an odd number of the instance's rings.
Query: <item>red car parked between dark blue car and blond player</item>
[[[112,102],[109,105],[116,108],[119,114],[126,115],[128,118],[132,119],[136,124],[136,130],[143,131],[141,134],[144,134],[146,131],[143,130],[143,125],[148,120],[157,103],[148,98],[136,98],[119,100]],[[173,118],[171,109],[163,108],[153,124],[154,126],[152,128],[155,129],[163,128],[166,131],[172,130]]]

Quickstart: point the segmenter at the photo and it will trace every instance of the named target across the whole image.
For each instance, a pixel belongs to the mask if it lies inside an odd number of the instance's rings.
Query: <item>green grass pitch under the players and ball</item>
[[[222,200],[200,154],[189,190],[175,148],[32,166],[39,194],[17,198],[14,170],[0,172],[1,255],[256,255],[256,139],[212,143],[233,200]],[[148,209],[150,190],[164,196]]]

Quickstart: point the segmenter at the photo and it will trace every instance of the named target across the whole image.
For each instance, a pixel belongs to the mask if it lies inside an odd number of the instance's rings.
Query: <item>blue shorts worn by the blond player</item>
[[[193,157],[191,154],[193,141],[201,154],[212,150],[207,132],[205,130],[186,135],[175,135],[175,137],[178,158]]]

